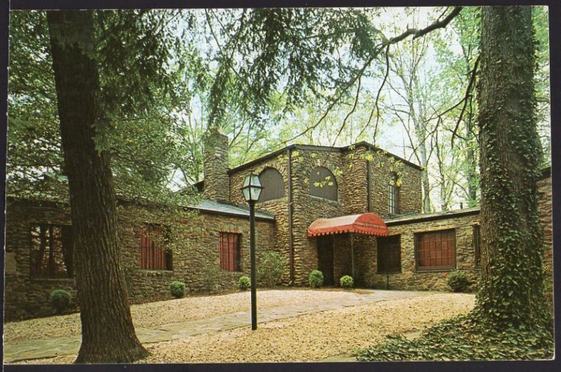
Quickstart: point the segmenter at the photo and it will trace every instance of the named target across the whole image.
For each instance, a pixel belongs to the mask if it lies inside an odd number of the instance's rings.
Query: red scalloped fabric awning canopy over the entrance
[[[308,237],[341,233],[386,236],[388,227],[374,213],[352,214],[333,219],[316,219],[308,227]]]

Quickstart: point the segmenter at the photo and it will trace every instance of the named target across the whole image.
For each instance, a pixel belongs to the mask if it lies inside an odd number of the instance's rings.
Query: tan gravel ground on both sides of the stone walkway
[[[358,296],[367,295],[360,291],[259,291],[258,303],[259,310],[274,310],[302,301],[321,303],[340,299],[343,303]],[[170,323],[170,320],[180,322],[180,319],[201,319],[226,312],[248,311],[246,298],[247,294],[182,298],[133,305],[131,311],[137,326],[154,326]],[[425,292],[422,296],[342,306],[334,310],[262,322],[257,331],[242,326],[147,343],[145,346],[152,354],[140,363],[320,361],[334,355],[352,354],[354,350],[384,340],[391,333],[419,331],[442,319],[464,315],[473,308],[473,304],[474,296],[471,294]],[[53,322],[53,319],[57,322]],[[79,331],[79,320],[76,321]],[[42,326],[43,331],[49,332],[56,329],[58,334],[67,336],[76,333],[74,323],[72,316],[8,323],[6,340],[33,338],[43,333],[38,329],[29,329],[31,325]],[[76,355],[65,355],[27,363],[64,364],[72,363],[75,358]]]

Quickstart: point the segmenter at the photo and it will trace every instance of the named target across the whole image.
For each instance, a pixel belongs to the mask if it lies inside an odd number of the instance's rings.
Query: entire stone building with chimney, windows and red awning
[[[249,274],[241,186],[250,172],[264,186],[256,205],[257,253],[276,251],[285,258],[285,285],[306,285],[314,269],[323,272],[325,285],[337,286],[342,275],[351,275],[358,286],[383,289],[447,290],[452,270],[478,277],[479,209],[422,214],[418,165],[360,142],[293,144],[229,169],[227,146],[219,132],[205,137],[205,179],[195,185],[204,200],[186,207],[197,217],[173,249],[158,241],[167,221],[157,214],[142,223],[133,218],[151,216],[157,206],[119,202],[121,260],[132,302],[170,298],[174,280],[189,291],[227,289]],[[546,170],[539,190],[548,270],[550,188]],[[67,205],[8,198],[6,319],[52,314],[53,289],[76,295],[71,234]]]

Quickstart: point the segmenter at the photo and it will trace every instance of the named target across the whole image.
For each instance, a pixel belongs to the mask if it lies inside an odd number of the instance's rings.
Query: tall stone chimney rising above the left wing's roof
[[[203,195],[210,200],[229,201],[228,136],[218,128],[208,130],[203,139],[205,181]]]

